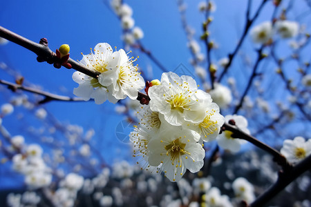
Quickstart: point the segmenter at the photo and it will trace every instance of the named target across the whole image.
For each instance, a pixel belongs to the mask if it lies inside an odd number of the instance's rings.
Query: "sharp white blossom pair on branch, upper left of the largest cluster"
[[[126,97],[136,99],[138,91],[144,88],[144,79],[137,66],[133,66],[134,61],[123,49],[113,52],[108,43],[98,43],[90,54],[83,55],[80,63],[94,72],[100,72],[100,75],[96,79],[74,72],[73,80],[79,83],[79,87],[73,93],[85,101],[92,98],[97,104],[107,99],[112,103]]]

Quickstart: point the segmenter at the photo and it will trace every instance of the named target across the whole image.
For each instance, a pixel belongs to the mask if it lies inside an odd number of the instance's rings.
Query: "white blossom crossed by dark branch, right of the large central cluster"
[[[229,120],[234,120],[235,126],[241,131],[249,134],[249,130],[247,129],[247,119],[240,115],[227,115],[225,116],[225,122],[229,123]],[[245,144],[247,141],[244,139],[238,139],[238,137],[233,138],[232,132],[229,130],[223,131],[216,138],[218,145],[225,150],[229,150],[230,152],[238,152],[241,148],[241,144]]]

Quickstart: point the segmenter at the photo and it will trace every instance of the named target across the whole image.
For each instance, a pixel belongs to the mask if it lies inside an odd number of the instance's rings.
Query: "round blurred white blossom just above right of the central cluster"
[[[232,101],[231,90],[220,83],[215,83],[214,89],[209,91],[209,94],[211,95],[211,99],[213,99],[220,108],[227,107]]]

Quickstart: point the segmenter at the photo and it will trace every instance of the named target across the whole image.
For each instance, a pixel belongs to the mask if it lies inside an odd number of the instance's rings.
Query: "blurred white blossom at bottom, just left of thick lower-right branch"
[[[238,177],[232,183],[234,194],[238,199],[244,200],[247,203],[254,201],[254,186],[244,177]]]

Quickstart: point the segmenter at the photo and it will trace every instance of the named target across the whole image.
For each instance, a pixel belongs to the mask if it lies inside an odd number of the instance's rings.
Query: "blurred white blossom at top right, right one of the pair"
[[[299,24],[296,21],[288,20],[276,21],[274,27],[276,33],[283,39],[295,37],[299,30]]]

